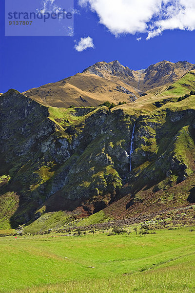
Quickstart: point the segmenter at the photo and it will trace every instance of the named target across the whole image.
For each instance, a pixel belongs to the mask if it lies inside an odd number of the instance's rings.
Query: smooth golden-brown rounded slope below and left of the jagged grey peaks
[[[115,104],[119,101],[132,102],[139,96],[136,88],[120,79],[107,80],[88,72],[33,88],[24,94],[43,105],[56,107],[98,106],[105,101]]]

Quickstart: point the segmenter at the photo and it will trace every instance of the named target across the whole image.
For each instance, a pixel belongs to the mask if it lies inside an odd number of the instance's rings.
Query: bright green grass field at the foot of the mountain
[[[1,237],[0,292],[195,292],[195,232],[189,230]]]

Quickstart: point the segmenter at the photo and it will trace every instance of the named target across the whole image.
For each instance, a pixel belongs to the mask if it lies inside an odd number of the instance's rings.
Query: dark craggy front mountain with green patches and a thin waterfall
[[[150,72],[156,88],[112,109],[43,105],[14,89],[2,94],[0,229],[25,224],[26,231],[44,230],[47,221],[55,228],[87,217],[92,224],[195,203],[195,70],[182,75],[191,65],[175,63],[182,76],[165,84],[175,74],[160,79],[156,68],[167,64],[141,73]],[[115,86],[116,80],[131,82],[135,73],[118,66],[101,67],[104,77],[91,73],[92,66],[66,83],[78,76],[82,84],[86,76]]]

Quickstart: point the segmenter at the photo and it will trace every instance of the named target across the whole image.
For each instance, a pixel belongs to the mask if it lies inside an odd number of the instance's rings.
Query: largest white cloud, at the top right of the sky
[[[89,5],[99,22],[114,35],[147,33],[147,40],[164,30],[195,30],[195,0],[78,0]]]

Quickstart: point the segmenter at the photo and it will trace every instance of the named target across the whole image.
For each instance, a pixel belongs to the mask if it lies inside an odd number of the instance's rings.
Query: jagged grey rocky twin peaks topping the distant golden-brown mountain
[[[88,72],[116,82],[119,79],[143,93],[157,86],[172,84],[193,67],[194,64],[187,61],[177,63],[162,61],[150,65],[147,69],[135,71],[124,67],[116,60],[110,63],[98,62],[86,68],[83,73]]]

